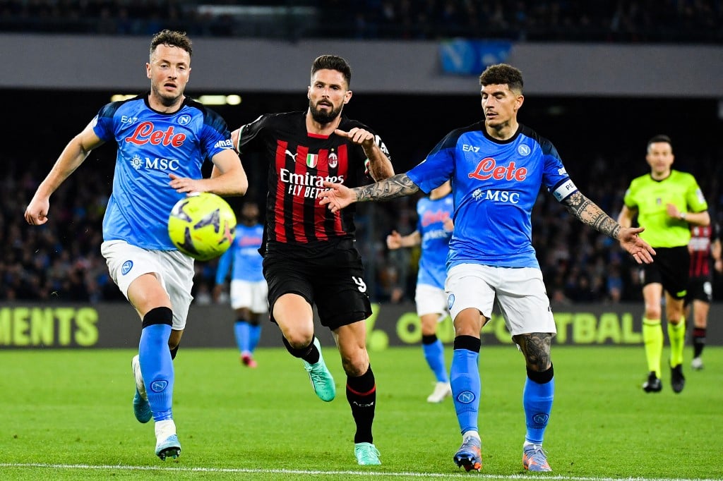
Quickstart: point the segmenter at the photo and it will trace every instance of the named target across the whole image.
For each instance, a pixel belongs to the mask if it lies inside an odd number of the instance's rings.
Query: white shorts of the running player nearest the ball
[[[126,241],[105,241],[100,254],[106,258],[108,272],[126,298],[131,282],[143,274],[153,273],[171,298],[173,329],[186,327],[188,308],[193,296],[193,259],[179,251],[150,251],[131,246]]]

